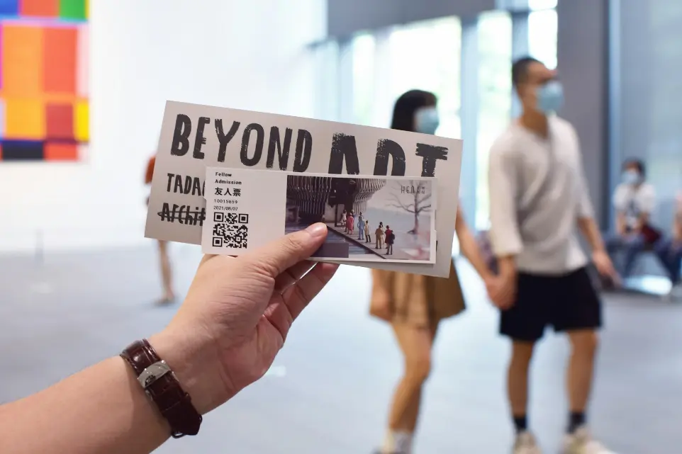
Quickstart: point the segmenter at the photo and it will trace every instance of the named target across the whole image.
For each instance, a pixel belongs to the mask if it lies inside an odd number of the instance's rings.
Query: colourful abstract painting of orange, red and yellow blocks
[[[0,164],[84,159],[88,16],[88,0],[0,0]]]

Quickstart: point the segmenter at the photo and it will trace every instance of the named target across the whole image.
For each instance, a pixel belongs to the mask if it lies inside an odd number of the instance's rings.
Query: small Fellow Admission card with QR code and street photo
[[[206,169],[206,254],[240,255],[324,222],[318,261],[435,263],[435,178]]]

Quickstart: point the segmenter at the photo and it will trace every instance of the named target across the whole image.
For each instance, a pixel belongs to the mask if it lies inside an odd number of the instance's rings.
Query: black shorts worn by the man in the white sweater
[[[598,329],[601,318],[601,301],[587,268],[562,276],[519,273],[516,302],[502,311],[500,333],[537,341],[547,325],[554,331]]]

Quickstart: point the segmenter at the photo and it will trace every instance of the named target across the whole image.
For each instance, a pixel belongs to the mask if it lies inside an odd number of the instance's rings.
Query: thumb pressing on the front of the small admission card
[[[247,262],[264,268],[269,276],[276,278],[291,266],[310,259],[327,238],[327,226],[317,222],[305,230],[293,232],[259,247],[243,256]]]

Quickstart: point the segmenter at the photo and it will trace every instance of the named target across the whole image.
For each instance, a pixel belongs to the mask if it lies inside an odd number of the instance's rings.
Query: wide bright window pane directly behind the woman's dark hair
[[[441,125],[437,134],[460,137],[461,42],[462,29],[455,17],[354,38],[354,123],[388,127],[398,96],[410,89],[422,89],[438,97]]]

